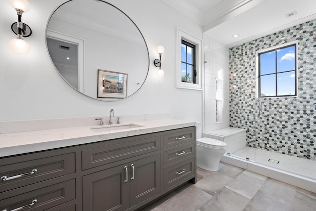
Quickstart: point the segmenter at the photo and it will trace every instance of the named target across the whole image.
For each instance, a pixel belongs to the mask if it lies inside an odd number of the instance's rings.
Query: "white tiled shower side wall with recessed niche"
[[[229,48],[203,35],[203,52],[203,132],[209,132],[229,127]]]

